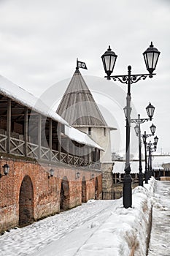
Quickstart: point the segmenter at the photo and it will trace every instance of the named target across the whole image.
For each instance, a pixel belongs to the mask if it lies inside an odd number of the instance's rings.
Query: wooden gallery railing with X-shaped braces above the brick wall
[[[9,148],[7,147],[9,145]],[[76,165],[76,166],[82,166],[82,167],[89,167],[92,169],[100,169],[100,163],[99,162],[88,162],[88,159],[73,156],[71,154],[66,154],[64,152],[61,152],[59,154],[59,151],[50,150],[50,148],[46,148],[44,146],[41,146],[39,148],[39,145],[31,143],[31,142],[25,142],[24,140],[20,140],[18,138],[13,138],[8,136],[6,134],[0,133],[0,152],[3,153],[10,153],[17,156],[23,156],[23,157],[31,157],[34,159],[42,159],[46,161],[52,161],[52,162],[62,162],[67,165]]]

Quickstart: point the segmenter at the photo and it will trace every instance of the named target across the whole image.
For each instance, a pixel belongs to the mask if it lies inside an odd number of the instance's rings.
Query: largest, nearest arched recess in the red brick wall
[[[34,189],[31,178],[26,175],[20,186],[19,226],[34,222]]]

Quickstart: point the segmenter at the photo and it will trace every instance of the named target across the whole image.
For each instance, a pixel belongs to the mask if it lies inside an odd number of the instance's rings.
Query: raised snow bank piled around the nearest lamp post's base
[[[146,256],[155,179],[133,191],[133,207],[119,206],[75,255]]]

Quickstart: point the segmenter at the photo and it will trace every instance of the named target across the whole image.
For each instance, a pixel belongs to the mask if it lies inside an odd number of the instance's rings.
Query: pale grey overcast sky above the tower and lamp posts
[[[88,70],[80,72],[101,110],[109,110],[107,122],[113,119],[117,127],[115,136],[121,142],[113,146],[115,151],[125,146],[124,116],[118,113],[125,106],[127,88],[104,80],[101,55],[111,45],[118,56],[115,75],[125,75],[129,64],[132,72],[146,73],[142,53],[152,41],[161,51],[157,75],[131,86],[133,117],[147,117],[145,108],[151,102],[158,152],[170,151],[169,0],[0,0],[0,17],[0,74],[38,97],[48,92],[50,99],[55,87],[57,102],[72,78],[76,59],[85,61]],[[108,99],[114,107],[108,107]],[[150,124],[142,124],[142,132],[148,133]]]

